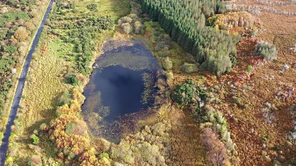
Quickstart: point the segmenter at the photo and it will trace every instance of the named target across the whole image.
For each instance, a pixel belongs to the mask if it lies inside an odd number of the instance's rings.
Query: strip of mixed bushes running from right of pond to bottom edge
[[[209,164],[230,165],[230,161],[236,164],[239,158],[234,155],[237,151],[227,129],[227,121],[222,112],[210,106],[215,101],[210,91],[194,80],[187,79],[177,85],[172,98],[184,110],[192,111],[197,121],[201,121],[202,141],[208,151]]]

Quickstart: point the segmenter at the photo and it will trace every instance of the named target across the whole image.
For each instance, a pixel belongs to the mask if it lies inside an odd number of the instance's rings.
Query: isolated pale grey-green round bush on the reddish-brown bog
[[[259,41],[255,48],[255,53],[261,58],[271,61],[276,59],[276,47],[264,41]]]

